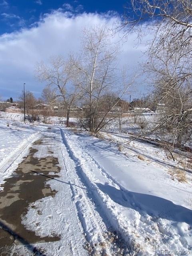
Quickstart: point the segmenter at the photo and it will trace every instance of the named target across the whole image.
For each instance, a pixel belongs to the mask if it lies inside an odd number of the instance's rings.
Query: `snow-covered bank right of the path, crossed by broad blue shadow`
[[[192,249],[192,208],[186,202],[192,198],[190,182],[178,183],[164,168],[125,156],[109,142],[64,133],[98,203],[132,254]]]

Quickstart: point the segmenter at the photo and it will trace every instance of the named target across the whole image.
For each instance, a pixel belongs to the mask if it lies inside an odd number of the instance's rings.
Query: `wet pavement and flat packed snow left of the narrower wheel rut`
[[[1,234],[0,246],[6,255],[87,255],[59,138],[58,129],[42,132],[2,185],[1,226],[10,238]]]

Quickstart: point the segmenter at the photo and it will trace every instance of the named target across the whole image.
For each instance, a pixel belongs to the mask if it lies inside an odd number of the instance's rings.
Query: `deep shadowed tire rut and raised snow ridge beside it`
[[[98,196],[98,187],[95,187],[93,184],[90,183],[89,178],[86,176],[86,174],[84,173],[84,171],[82,169],[82,166],[81,166],[82,164],[81,164],[80,160],[78,158],[76,158],[73,151],[70,149],[70,146],[66,140],[63,130],[61,128],[59,128],[59,129],[60,129],[60,132],[62,135],[62,139],[63,139],[64,145],[65,145],[65,148],[69,154],[69,155],[67,154],[67,157],[66,157],[66,155],[64,155],[64,158],[68,159],[67,164],[69,163],[70,169],[74,168],[71,160],[73,160],[73,163],[75,164],[75,168],[76,168],[76,177],[70,176],[71,172],[69,171],[68,172],[69,179],[74,180],[74,182],[76,182],[74,184],[79,184],[79,186],[83,186],[83,189],[81,191],[78,191],[78,188],[74,189],[74,186],[72,186],[72,191],[73,191],[73,196],[76,200],[79,218],[82,221],[82,225],[84,227],[85,232],[88,231],[88,240],[90,240],[91,246],[94,244],[94,247],[95,247],[94,249],[96,250],[96,253],[98,253],[98,252],[100,253],[99,255],[103,255],[103,253],[107,253],[107,255],[117,255],[118,252],[120,252],[120,250],[123,251],[125,249],[124,245],[122,246],[122,244],[121,244],[121,243],[124,243],[124,241],[122,241],[121,238],[118,241],[118,236],[117,236],[117,239],[115,241],[116,243],[114,243],[114,245],[113,245],[110,242],[110,240],[111,240],[110,237],[108,238],[108,235],[107,235],[107,234],[111,234],[111,232],[108,232],[108,230],[106,228],[106,224],[105,224],[107,222],[107,226],[110,226],[110,229],[112,228],[112,226],[115,226],[115,225],[111,226],[111,219],[113,219],[114,216],[112,216],[110,218],[110,220],[106,216],[106,214],[105,214],[106,209],[104,207],[103,198]],[[66,168],[66,169],[68,169],[68,168]],[[79,179],[83,182],[84,185],[82,185],[82,183],[80,182]],[[85,193],[85,191],[87,193],[89,193],[89,195],[87,195]],[[83,194],[83,196],[80,200],[78,198],[79,193]],[[97,204],[98,204],[96,210],[95,210],[95,206],[93,205],[93,202],[97,202]],[[97,211],[98,208],[100,208],[99,212]],[[89,212],[90,216],[87,216],[87,215],[84,216],[84,214],[83,214],[84,210],[86,210],[86,212]],[[101,212],[102,212],[102,214],[100,214]],[[92,228],[88,228],[90,226]],[[96,238],[94,235],[95,230],[97,230],[97,232],[98,232]],[[118,230],[118,228],[115,228],[115,230]],[[112,240],[113,240],[113,238],[112,238]],[[100,241],[99,248],[98,248],[98,244],[97,244],[98,241]],[[119,248],[119,246],[121,248]],[[128,250],[128,247],[126,247],[126,249]],[[91,251],[91,253],[94,253],[94,251]],[[122,254],[122,255],[124,255],[124,254]]]

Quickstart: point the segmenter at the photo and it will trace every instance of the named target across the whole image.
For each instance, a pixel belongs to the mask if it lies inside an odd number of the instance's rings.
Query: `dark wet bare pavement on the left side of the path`
[[[44,144],[37,140],[33,145]],[[59,177],[58,158],[47,156],[36,158],[36,148],[30,148],[30,153],[18,165],[14,176],[7,178],[0,191],[0,255],[4,253],[4,246],[15,244],[33,244],[40,242],[58,241],[58,236],[40,237],[34,231],[27,230],[22,224],[22,216],[28,212],[30,203],[46,196],[54,197],[56,190],[52,190],[46,181]],[[49,174],[51,172],[51,175]]]

